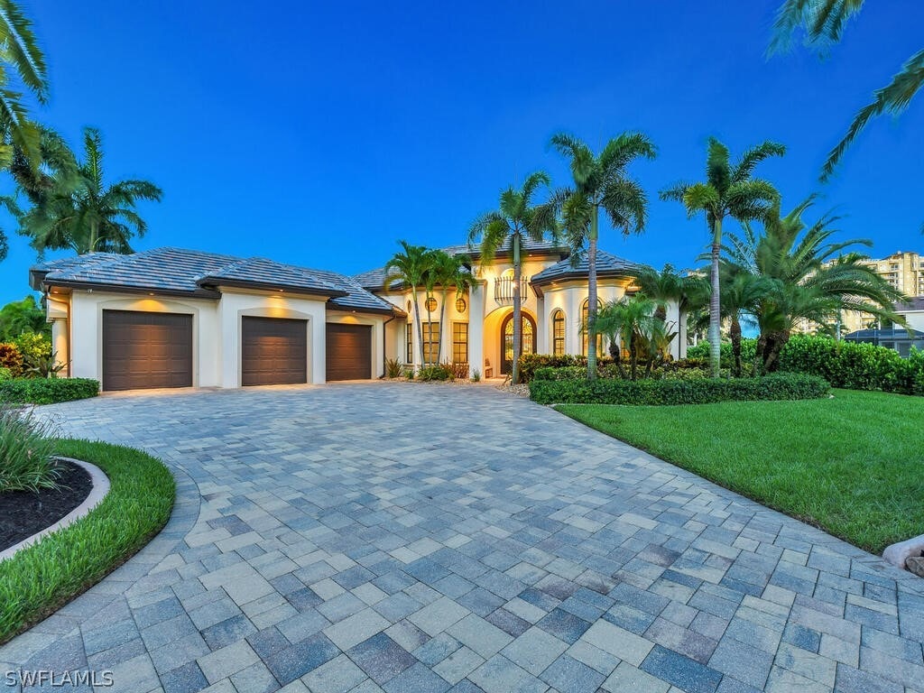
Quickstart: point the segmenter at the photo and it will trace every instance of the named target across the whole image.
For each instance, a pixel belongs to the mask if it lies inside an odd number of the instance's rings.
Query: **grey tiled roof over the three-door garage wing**
[[[36,289],[42,285],[68,286],[200,298],[219,298],[219,286],[238,286],[327,297],[342,310],[401,312],[342,274],[266,258],[237,258],[176,248],[131,255],[90,253],[43,262],[31,268],[30,283]]]

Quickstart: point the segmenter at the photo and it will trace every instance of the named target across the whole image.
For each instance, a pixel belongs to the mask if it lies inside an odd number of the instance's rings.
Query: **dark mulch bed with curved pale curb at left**
[[[56,489],[0,493],[0,551],[51,527],[90,495],[93,482],[86,469],[64,461],[57,465]]]

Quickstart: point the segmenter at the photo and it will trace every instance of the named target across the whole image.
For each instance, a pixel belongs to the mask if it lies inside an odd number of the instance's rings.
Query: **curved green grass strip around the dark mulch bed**
[[[0,643],[122,565],[164,527],[173,508],[173,476],[140,450],[61,440],[56,454],[103,469],[110,490],[88,516],[0,563]]]

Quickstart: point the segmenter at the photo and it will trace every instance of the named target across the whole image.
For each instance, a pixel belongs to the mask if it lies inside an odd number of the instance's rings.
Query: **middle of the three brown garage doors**
[[[308,321],[241,318],[241,383],[308,382]]]

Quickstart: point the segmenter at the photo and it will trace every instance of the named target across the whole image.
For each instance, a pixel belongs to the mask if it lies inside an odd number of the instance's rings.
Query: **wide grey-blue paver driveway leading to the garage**
[[[924,687],[918,578],[489,387],[43,410],[167,460],[179,504],[3,669],[132,693]]]

